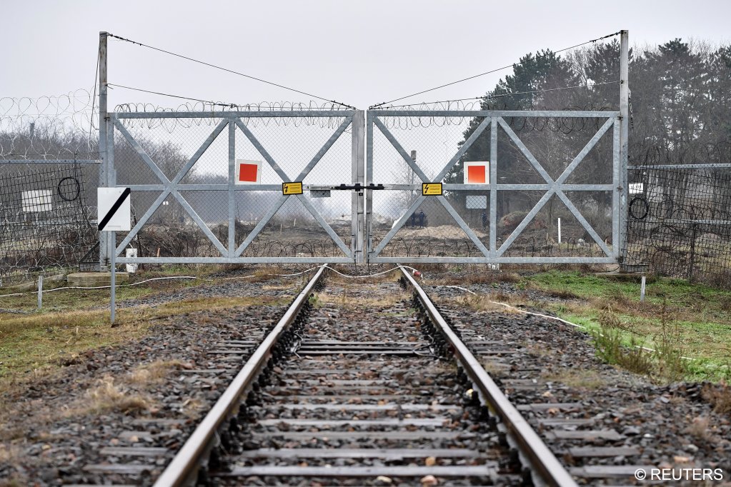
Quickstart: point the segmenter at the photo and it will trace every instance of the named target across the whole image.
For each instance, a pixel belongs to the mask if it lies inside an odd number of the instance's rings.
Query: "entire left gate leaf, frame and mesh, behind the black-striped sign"
[[[102,139],[102,185],[134,209],[102,261],[363,260],[363,112],[114,112]]]

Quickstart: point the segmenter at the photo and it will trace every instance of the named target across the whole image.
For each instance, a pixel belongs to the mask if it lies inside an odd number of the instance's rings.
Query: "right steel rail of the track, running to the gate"
[[[404,266],[399,266],[399,268],[404,273],[406,280],[411,283],[414,291],[416,291],[429,318],[441,329],[444,338],[452,345],[455,356],[473,381],[474,386],[479,389],[482,398],[485,399],[491,410],[499,416],[504,426],[507,427],[507,433],[518,444],[521,453],[529,460],[534,472],[537,472],[540,478],[549,486],[576,487],[577,483],[574,478],[556,459],[556,456],[548,449],[548,446],[545,445],[535,430],[520,415],[510,399],[507,399],[507,396],[502,393],[495,381],[488,375],[488,372],[485,372],[485,368],[480,365],[477,358],[472,355],[467,346],[452,331],[447,321],[444,321],[442,314],[436,309],[436,306],[414,277],[409,274]]]

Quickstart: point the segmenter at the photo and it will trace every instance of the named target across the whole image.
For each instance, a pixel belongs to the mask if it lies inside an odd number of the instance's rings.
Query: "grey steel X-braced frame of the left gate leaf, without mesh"
[[[135,137],[129,133],[124,126],[122,120],[126,119],[159,119],[159,118],[216,118],[221,121],[216,125],[211,134],[202,143],[194,155],[186,162],[186,164],[178,171],[177,175],[169,179],[162,169],[157,166],[155,161],[145,153],[143,147],[135,140]],[[335,132],[330,135],[322,147],[317,151],[315,156],[311,158],[308,164],[302,169],[300,174],[291,179],[277,164],[267,150],[262,146],[254,134],[246,127],[241,120],[242,118],[344,118],[344,121],[338,126]],[[363,193],[353,193],[352,197],[352,239],[351,247],[348,248],[345,242],[336,234],[330,225],[319,215],[311,202],[304,194],[300,195],[282,195],[275,204],[268,210],[261,221],[254,227],[251,233],[238,245],[235,242],[235,191],[281,191],[281,184],[256,184],[256,185],[235,185],[235,134],[238,128],[244,136],[251,142],[267,161],[269,166],[279,175],[283,182],[302,181],[312,169],[317,165],[322,156],[325,156],[327,150],[341,137],[349,126],[352,126],[352,183],[363,184],[363,171],[360,169],[359,161],[362,161],[362,144],[358,141],[363,137],[363,112],[361,110],[304,110],[304,111],[230,111],[230,112],[115,112],[107,113],[106,127],[106,151],[104,158],[104,173],[107,187],[125,187],[132,191],[159,191],[157,199],[151,204],[145,214],[135,224],[131,231],[126,234],[120,245],[112,248],[112,239],[106,239],[107,255],[111,256],[118,264],[239,264],[239,263],[354,263],[363,261],[363,205],[359,203]],[[188,174],[190,169],[198,161],[200,156],[211,147],[213,141],[219,137],[224,129],[228,129],[228,163],[229,174],[227,184],[181,184],[181,180]],[[159,179],[159,183],[148,185],[116,185],[116,171],[114,169],[114,130],[124,137],[126,142],[135,150],[138,156],[145,161],[145,164]],[[107,135],[108,134],[108,135]],[[321,185],[303,185],[303,191],[311,191],[327,188]],[[197,212],[183,198],[179,191],[227,191],[228,192],[228,242],[224,246],[211,229],[202,221]],[[124,248],[132,242],[140,229],[151,218],[154,212],[162,205],[167,196],[172,195],[188,213],[190,218],[197,224],[200,230],[205,234],[208,240],[219,250],[220,256],[215,257],[122,257],[121,253]],[[268,221],[276,214],[284,202],[290,196],[296,196],[303,206],[312,214],[319,226],[324,229],[333,239],[333,242],[343,251],[344,257],[242,257],[241,254],[251,245],[251,242],[264,229]],[[104,242],[102,242],[104,243]]]

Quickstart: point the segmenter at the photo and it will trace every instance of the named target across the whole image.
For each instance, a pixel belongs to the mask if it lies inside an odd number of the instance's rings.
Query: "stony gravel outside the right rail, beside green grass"
[[[476,291],[476,286],[471,286]],[[643,465],[656,468],[721,469],[723,481],[673,481],[673,485],[731,485],[731,418],[713,413],[700,394],[701,385],[651,383],[645,377],[603,364],[588,334],[557,321],[524,314],[474,312],[449,298],[454,288],[431,288],[441,296],[442,311],[461,329],[464,340],[497,340],[515,352],[481,356],[482,363],[516,404],[580,403],[563,410],[523,411],[535,427],[556,418],[589,419],[575,429],[611,429],[617,440],[546,441],[567,467]],[[476,292],[479,293],[479,290]],[[473,346],[474,348],[474,346]],[[477,350],[474,350],[477,351]],[[531,384],[532,383],[532,384]],[[544,434],[546,437],[547,434]],[[602,459],[576,458],[569,448],[626,446],[638,455]],[[615,482],[632,483],[633,478]],[[602,480],[583,480],[602,485]]]

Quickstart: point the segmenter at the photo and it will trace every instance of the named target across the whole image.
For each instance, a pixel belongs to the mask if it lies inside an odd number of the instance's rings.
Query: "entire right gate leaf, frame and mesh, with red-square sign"
[[[368,183],[385,188],[367,196],[369,262],[618,261],[618,112],[374,110],[366,124]]]

